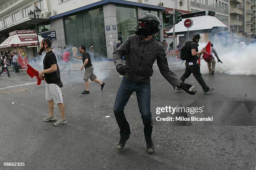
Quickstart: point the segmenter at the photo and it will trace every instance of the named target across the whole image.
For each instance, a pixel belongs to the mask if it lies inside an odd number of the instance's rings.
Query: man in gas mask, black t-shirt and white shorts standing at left
[[[56,56],[51,50],[51,40],[45,38],[41,41],[41,48],[38,54],[41,55],[45,51],[44,70],[39,73],[39,77],[46,81],[46,100],[49,107],[49,115],[43,119],[44,122],[54,121],[57,118],[54,116],[54,102],[58,105],[60,111],[60,119],[54,123],[54,126],[59,126],[67,123],[65,117],[65,106],[62,100],[62,82],[60,79],[59,67],[57,65]]]

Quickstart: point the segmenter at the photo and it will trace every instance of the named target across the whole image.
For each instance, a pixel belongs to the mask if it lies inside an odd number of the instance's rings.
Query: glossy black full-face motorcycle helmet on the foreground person
[[[143,14],[138,18],[139,25],[135,28],[136,35],[143,35],[148,37],[155,34],[159,30],[160,20],[151,13]]]

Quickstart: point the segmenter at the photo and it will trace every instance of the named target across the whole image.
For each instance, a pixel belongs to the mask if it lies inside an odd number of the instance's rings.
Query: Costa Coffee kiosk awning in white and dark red
[[[39,42],[44,38],[39,36]],[[17,30],[9,33],[9,37],[0,44],[0,48],[29,47],[38,45],[35,30]]]

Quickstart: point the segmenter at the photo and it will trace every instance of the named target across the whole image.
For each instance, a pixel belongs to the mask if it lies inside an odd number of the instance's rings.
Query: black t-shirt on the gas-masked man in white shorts
[[[51,65],[57,64],[56,56],[54,55],[54,52],[49,51],[46,53],[44,57],[44,70],[51,67]],[[56,83],[60,81],[60,73],[59,73],[59,67],[57,65],[57,71],[52,73],[45,73],[44,77],[46,80],[46,83]]]

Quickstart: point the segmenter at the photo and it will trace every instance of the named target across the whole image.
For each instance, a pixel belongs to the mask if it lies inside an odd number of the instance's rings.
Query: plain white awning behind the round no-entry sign
[[[184,26],[184,21],[187,18],[183,18],[178,24],[175,25],[175,35],[187,34],[187,28]],[[189,33],[209,33],[210,30],[228,30],[227,25],[223,24],[217,18],[210,15],[203,15],[190,18],[193,20],[193,25],[189,28]],[[167,35],[172,35],[173,28],[167,32]]]

